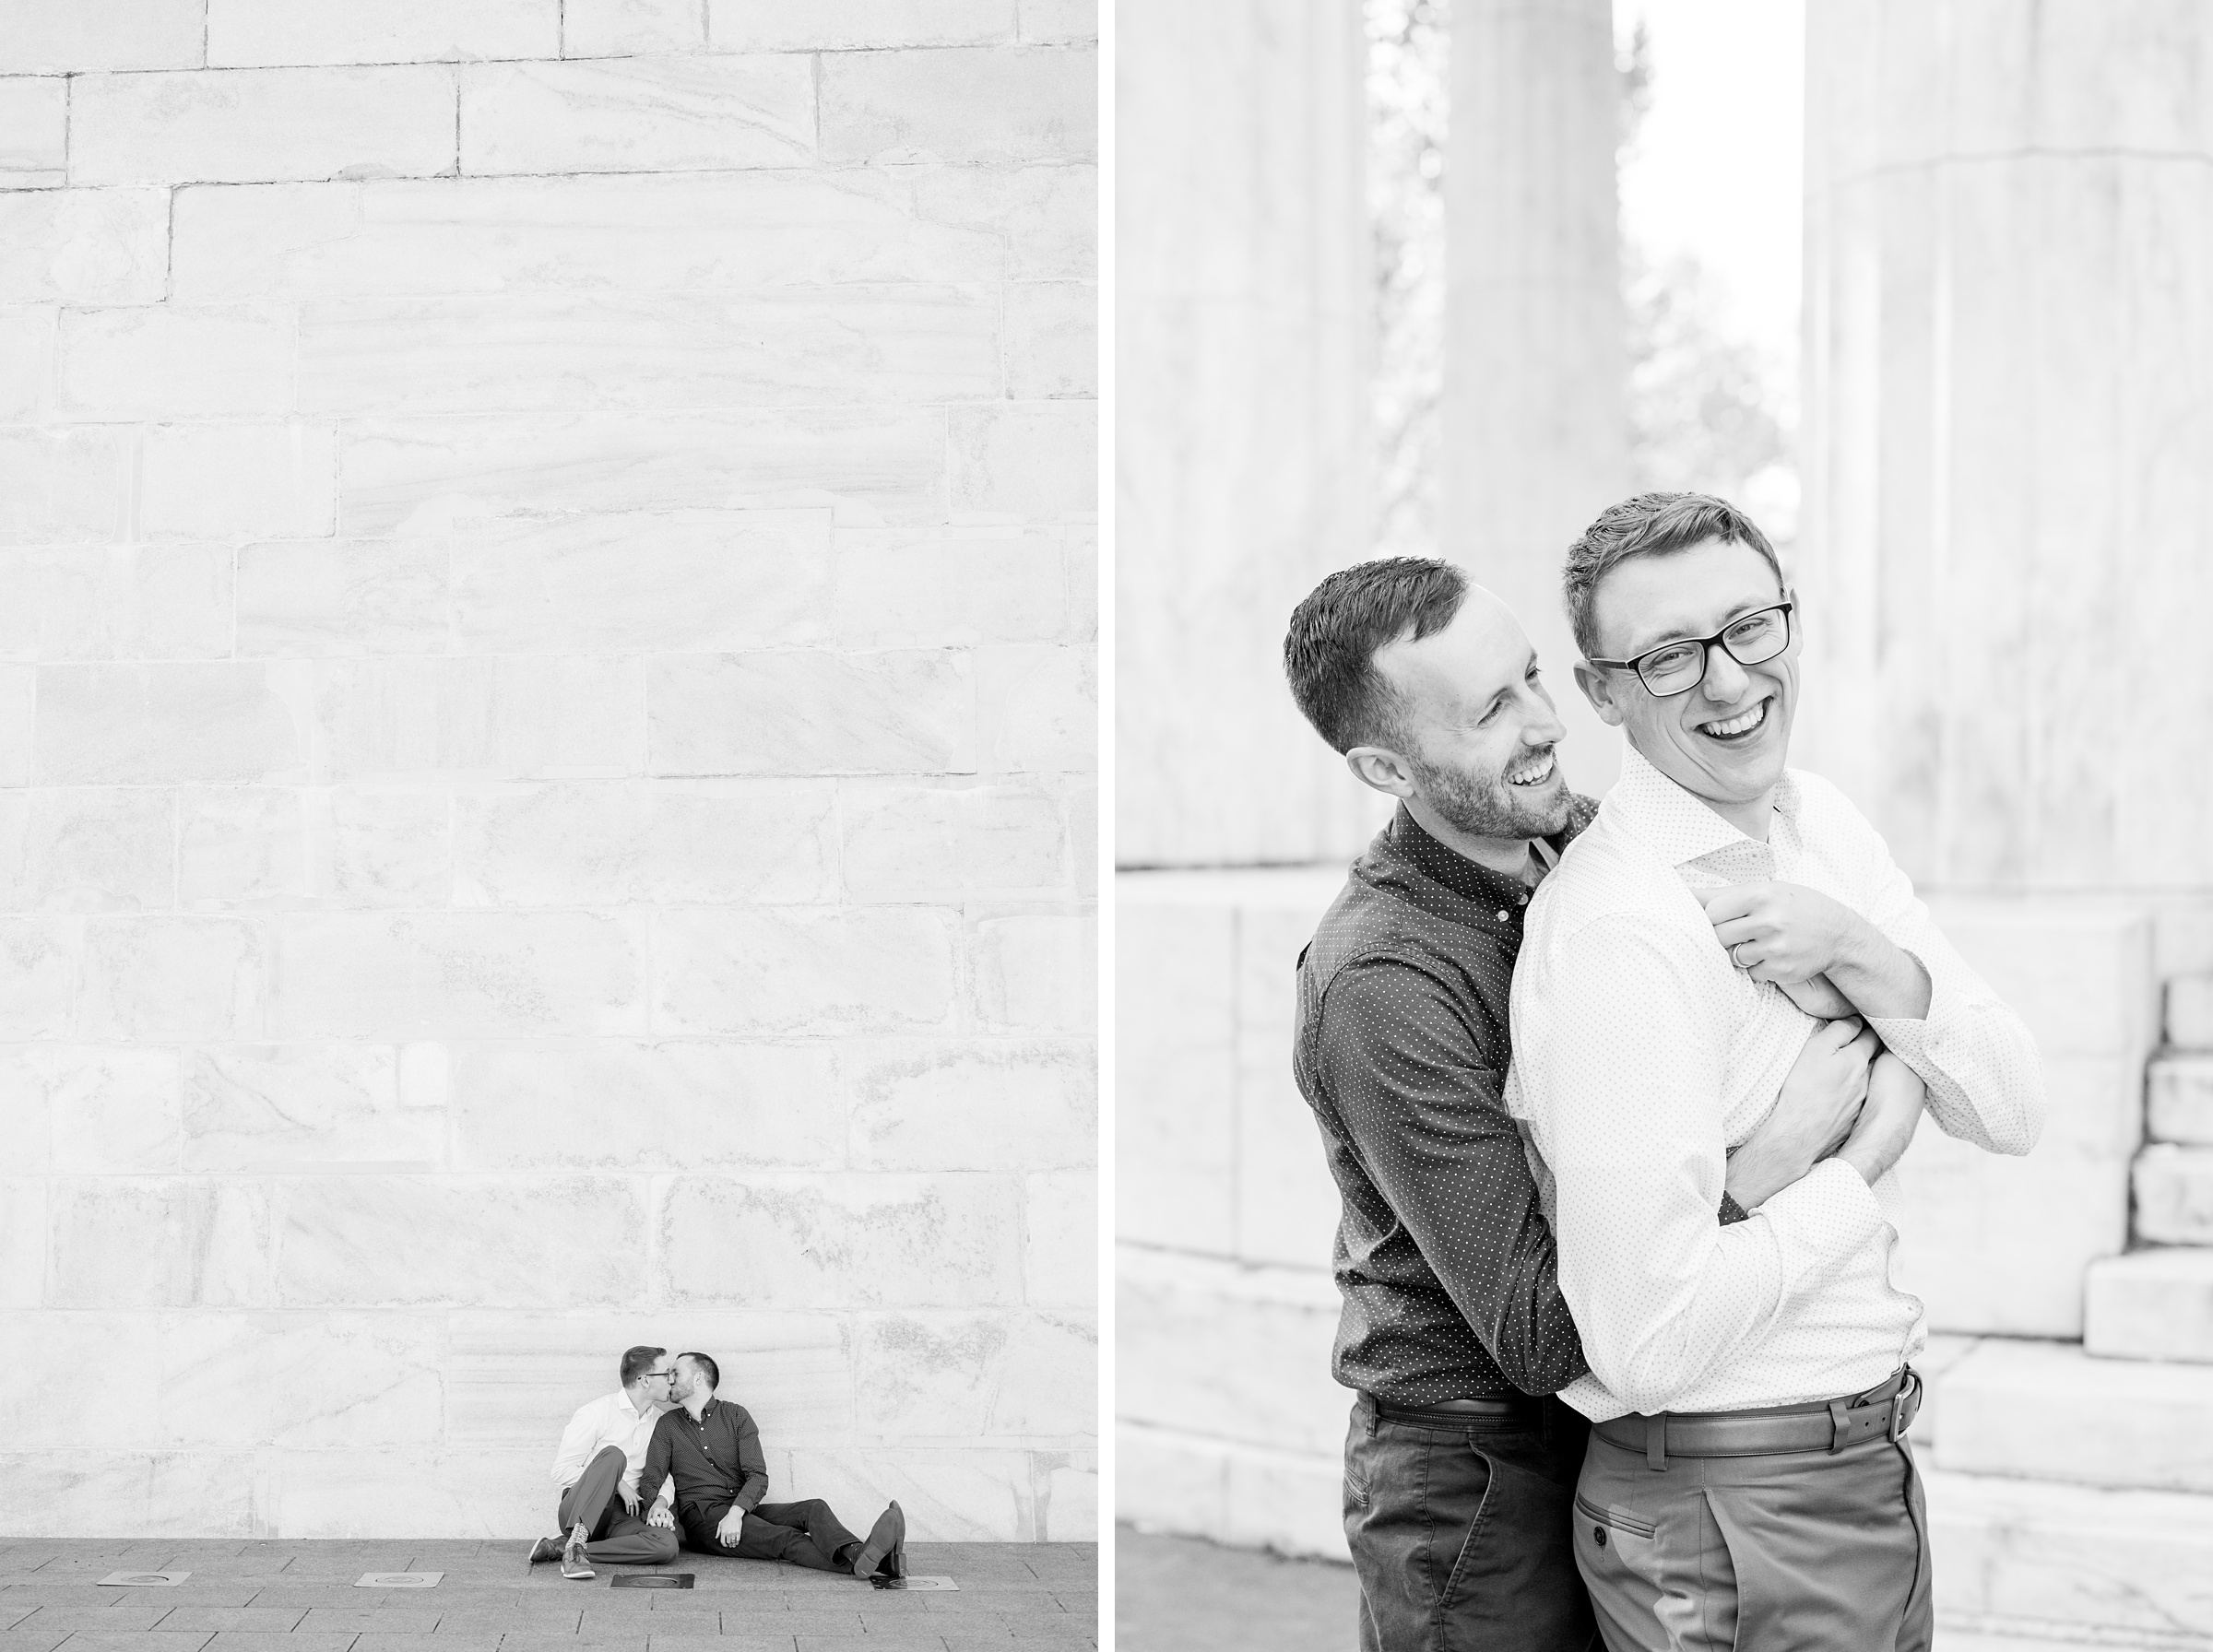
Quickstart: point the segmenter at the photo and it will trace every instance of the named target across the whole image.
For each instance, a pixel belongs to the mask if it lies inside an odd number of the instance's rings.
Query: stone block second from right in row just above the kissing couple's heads
[[[682,1307],[989,1307],[1020,1289],[1005,1177],[668,1177],[662,1300]]]

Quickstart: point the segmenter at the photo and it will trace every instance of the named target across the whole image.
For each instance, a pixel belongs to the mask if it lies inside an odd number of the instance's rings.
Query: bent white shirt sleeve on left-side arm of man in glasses
[[[1684,991],[1684,944],[1646,918],[1607,916],[1562,942],[1545,993],[1516,991],[1518,1081],[1554,1174],[1560,1294],[1591,1373],[1638,1411],[1669,1409],[1885,1227],[1841,1161],[1748,1221],[1715,1223],[1726,1028]]]

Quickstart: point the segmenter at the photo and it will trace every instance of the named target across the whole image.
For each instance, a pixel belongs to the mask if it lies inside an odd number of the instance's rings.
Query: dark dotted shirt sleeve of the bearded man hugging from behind
[[[1348,964],[1323,997],[1317,1050],[1361,1168],[1505,1378],[1523,1393],[1580,1378],[1505,1075],[1483,1064],[1452,991],[1405,962]]]

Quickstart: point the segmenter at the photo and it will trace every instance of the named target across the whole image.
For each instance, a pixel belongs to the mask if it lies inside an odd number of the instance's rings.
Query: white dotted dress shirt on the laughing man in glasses
[[[1923,1347],[1890,1272],[1890,1179],[1826,1161],[1717,1227],[1726,1150],[1773,1110],[1817,1022],[1737,971],[1691,893],[1777,878],[1868,918],[1930,975],[1925,1020],[1870,1024],[1930,1090],[1936,1123],[2027,1152],[2045,1088],[2027,1028],[1936,931],[1837,787],[1790,772],[1755,843],[1635,750],[1529,907],[1514,977],[1507,1108],[1538,1161],[1560,1294],[1593,1420],[1857,1393]]]

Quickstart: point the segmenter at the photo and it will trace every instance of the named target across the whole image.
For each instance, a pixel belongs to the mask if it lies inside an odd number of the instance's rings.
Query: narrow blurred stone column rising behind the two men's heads
[[[1560,562],[1629,493],[1618,106],[1607,0],[1456,0],[1438,540],[1520,615],[1591,794],[1620,739],[1569,672]]]

